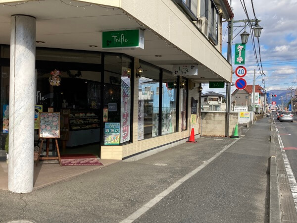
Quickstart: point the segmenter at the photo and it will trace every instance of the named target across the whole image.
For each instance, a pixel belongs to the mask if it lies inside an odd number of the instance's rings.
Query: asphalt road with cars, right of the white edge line
[[[297,116],[294,116],[294,122],[280,122],[277,120],[276,112],[273,112],[272,115],[279,130],[284,150],[286,150],[295,179],[297,179]]]

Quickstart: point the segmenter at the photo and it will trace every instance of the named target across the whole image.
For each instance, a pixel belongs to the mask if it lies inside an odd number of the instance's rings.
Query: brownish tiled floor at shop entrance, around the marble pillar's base
[[[57,161],[40,161],[38,166],[34,162],[34,190],[62,182],[81,174],[91,172],[121,160],[100,160],[104,166],[65,166],[60,167]],[[8,164],[0,162],[0,189],[8,190]]]

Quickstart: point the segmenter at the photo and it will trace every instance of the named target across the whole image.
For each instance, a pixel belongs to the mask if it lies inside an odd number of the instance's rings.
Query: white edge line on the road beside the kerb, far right
[[[280,147],[281,147],[281,152],[282,152],[283,160],[284,160],[284,163],[285,163],[287,176],[288,176],[288,179],[289,179],[289,185],[290,185],[290,189],[291,189],[294,204],[295,204],[295,209],[297,211],[297,183],[296,183],[296,179],[295,179],[294,173],[292,171],[291,165],[289,163],[286,151],[284,150],[284,144],[283,144],[283,141],[282,141],[281,136],[279,134],[279,131],[278,131],[277,127],[275,127],[275,129],[276,129],[277,137],[278,137],[279,144],[280,144]]]

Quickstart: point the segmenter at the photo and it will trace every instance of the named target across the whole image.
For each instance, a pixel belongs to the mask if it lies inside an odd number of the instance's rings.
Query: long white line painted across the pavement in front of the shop
[[[200,137],[201,138],[201,137]],[[140,209],[138,209],[136,212],[134,212],[132,215],[128,216],[125,220],[121,221],[120,223],[132,223],[136,219],[138,219],[140,216],[145,214],[152,206],[157,204],[160,200],[162,200],[166,195],[168,195],[171,191],[176,189],[179,185],[184,183],[187,179],[190,179],[192,176],[194,176],[196,173],[198,173],[201,169],[206,167],[208,164],[211,163],[215,158],[220,156],[225,150],[227,150],[229,147],[231,147],[234,143],[236,143],[239,139],[234,140],[232,143],[230,143],[228,146],[225,146],[224,149],[222,149],[220,152],[215,154],[212,158],[205,161],[202,165],[194,169],[193,171],[189,172],[184,177],[180,178],[178,181],[173,183],[171,186],[169,186],[167,189],[165,189],[163,192],[159,193],[157,196],[155,196],[153,199],[148,201],[147,204],[142,206]]]

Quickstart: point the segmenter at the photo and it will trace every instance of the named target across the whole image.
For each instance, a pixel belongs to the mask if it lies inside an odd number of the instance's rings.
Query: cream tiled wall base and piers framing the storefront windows
[[[134,61],[134,71],[136,72],[137,67],[139,67],[139,60],[135,58]],[[135,73],[134,72],[134,73]],[[162,145],[172,143],[177,140],[182,140],[185,138],[188,138],[191,133],[191,98],[194,97],[194,99],[199,99],[199,93],[198,93],[198,86],[196,88],[189,90],[188,95],[188,129],[186,131],[181,131],[181,113],[179,114],[179,127],[177,129],[177,132],[163,135],[163,136],[157,136],[150,139],[144,139],[138,141],[138,78],[134,78],[134,112],[133,112],[133,143],[129,143],[126,145],[120,145],[120,146],[101,146],[101,159],[115,159],[115,160],[122,160],[125,157],[146,151],[151,148],[160,147]],[[178,87],[180,84],[178,85]],[[181,95],[180,95],[181,97]],[[179,103],[179,111],[181,111],[181,104]],[[199,108],[200,105],[197,105],[197,108]],[[194,124],[194,131],[195,135],[198,135],[200,133],[200,120],[198,114],[197,123]],[[199,137],[199,136],[196,136]],[[173,146],[173,145],[172,145]]]

